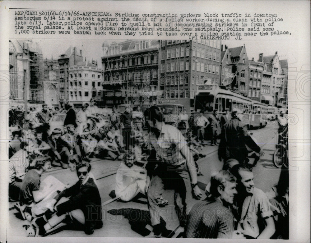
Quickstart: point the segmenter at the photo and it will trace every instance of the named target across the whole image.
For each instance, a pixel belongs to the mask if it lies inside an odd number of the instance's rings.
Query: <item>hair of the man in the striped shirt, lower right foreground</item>
[[[210,193],[213,197],[219,197],[218,192],[218,186],[221,186],[222,188],[225,188],[225,183],[229,182],[235,182],[234,176],[225,170],[220,170],[218,172],[215,172],[212,174],[211,177],[211,187],[210,187]]]

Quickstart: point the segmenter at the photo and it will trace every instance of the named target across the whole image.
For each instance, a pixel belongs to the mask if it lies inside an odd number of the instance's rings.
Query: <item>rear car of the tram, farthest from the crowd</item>
[[[268,106],[259,101],[252,100],[252,114],[250,117],[250,128],[262,128],[267,125],[266,117],[268,114]]]

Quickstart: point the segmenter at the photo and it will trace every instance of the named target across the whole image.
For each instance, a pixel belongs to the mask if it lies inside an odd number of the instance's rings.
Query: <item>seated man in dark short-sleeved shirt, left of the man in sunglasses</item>
[[[35,167],[26,173],[21,182],[20,202],[15,204],[15,208],[21,213],[24,220],[26,219],[24,210],[49,194],[48,190],[42,190],[42,188],[40,190],[40,177],[50,166],[51,157],[38,156],[35,158]]]

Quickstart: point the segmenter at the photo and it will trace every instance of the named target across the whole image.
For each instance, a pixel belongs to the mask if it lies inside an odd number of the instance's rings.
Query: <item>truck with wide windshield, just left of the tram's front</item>
[[[183,112],[184,106],[175,103],[160,103],[156,105],[164,115],[165,123],[173,126],[178,125],[178,115]]]

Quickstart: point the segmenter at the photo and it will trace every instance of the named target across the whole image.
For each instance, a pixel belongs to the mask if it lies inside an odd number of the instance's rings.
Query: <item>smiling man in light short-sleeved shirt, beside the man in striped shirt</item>
[[[230,171],[237,178],[238,197],[234,215],[238,231],[247,239],[270,239],[275,232],[273,212],[266,194],[254,187],[254,174],[245,164],[238,164]]]

